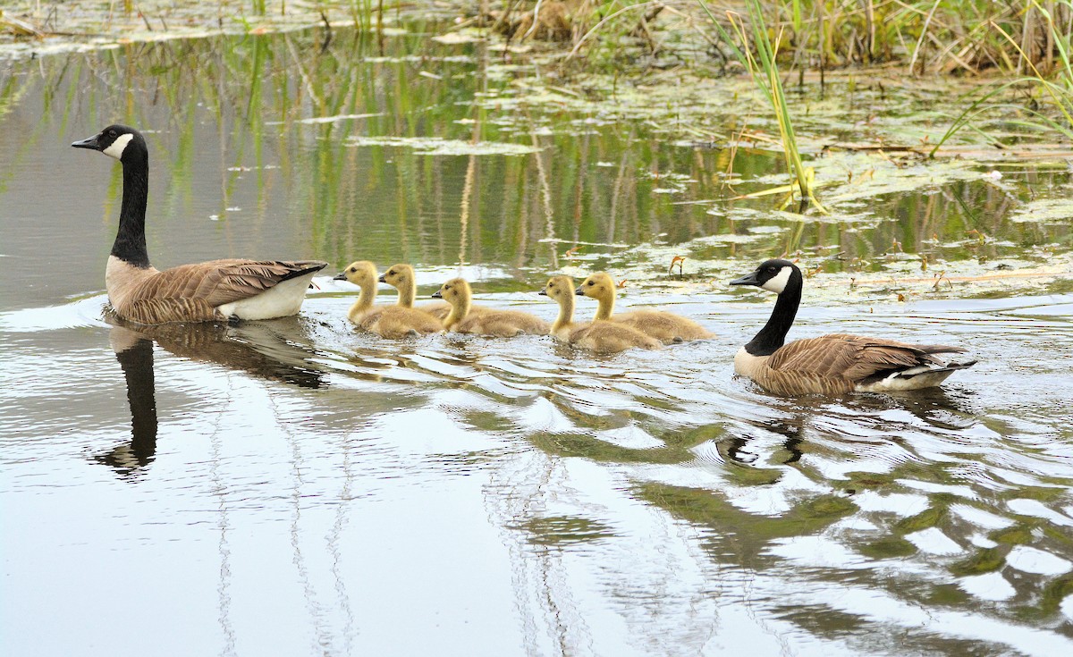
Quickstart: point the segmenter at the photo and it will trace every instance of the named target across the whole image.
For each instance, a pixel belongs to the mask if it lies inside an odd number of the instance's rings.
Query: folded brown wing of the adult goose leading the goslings
[[[160,300],[199,300],[210,307],[261,294],[273,286],[317,271],[327,263],[273,260],[212,260],[164,269],[143,282],[131,303]]]

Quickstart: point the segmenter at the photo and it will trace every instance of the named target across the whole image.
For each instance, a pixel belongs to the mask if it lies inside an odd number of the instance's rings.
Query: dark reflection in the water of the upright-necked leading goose
[[[153,344],[179,357],[223,365],[299,388],[327,385],[325,374],[309,364],[314,354],[297,318],[273,322],[163,324],[143,326],[107,317],[109,341],[127,383],[131,440],[94,456],[123,476],[149,465],[157,453],[157,389]]]

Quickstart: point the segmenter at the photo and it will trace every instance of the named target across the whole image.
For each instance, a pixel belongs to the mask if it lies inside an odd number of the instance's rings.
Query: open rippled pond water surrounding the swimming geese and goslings
[[[422,31],[0,63],[5,653],[1073,649],[1073,239],[1023,211],[1068,195],[1065,167],[970,167],[802,221],[733,199],[781,156],[527,101],[531,67]],[[119,169],[69,144],[116,120],[147,132],[155,264],[330,261],[299,317],[109,319]],[[773,298],[725,283],[783,252],[815,272],[792,336],[979,364],[911,396],[736,379]],[[385,341],[330,280],[355,259],[412,262],[422,295],[460,272],[548,319],[549,273],[607,268],[623,304],[718,337],[613,357]]]

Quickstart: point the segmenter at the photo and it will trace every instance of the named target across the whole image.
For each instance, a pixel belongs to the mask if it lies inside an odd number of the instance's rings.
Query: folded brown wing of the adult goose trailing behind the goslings
[[[880,371],[938,363],[931,353],[962,351],[939,345],[910,345],[846,333],[795,340],[767,360],[782,373],[863,381]]]

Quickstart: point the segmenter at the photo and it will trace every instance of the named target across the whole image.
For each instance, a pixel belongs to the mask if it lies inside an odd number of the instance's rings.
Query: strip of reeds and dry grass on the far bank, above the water
[[[734,33],[735,17],[749,29],[760,17],[779,63],[797,76],[872,67],[909,75],[1050,76],[1068,71],[1073,32],[1073,0],[16,0],[0,10],[0,47],[318,25],[378,31],[414,16],[442,18],[444,34],[486,29],[572,62],[720,69],[732,63],[736,45],[722,36]]]

